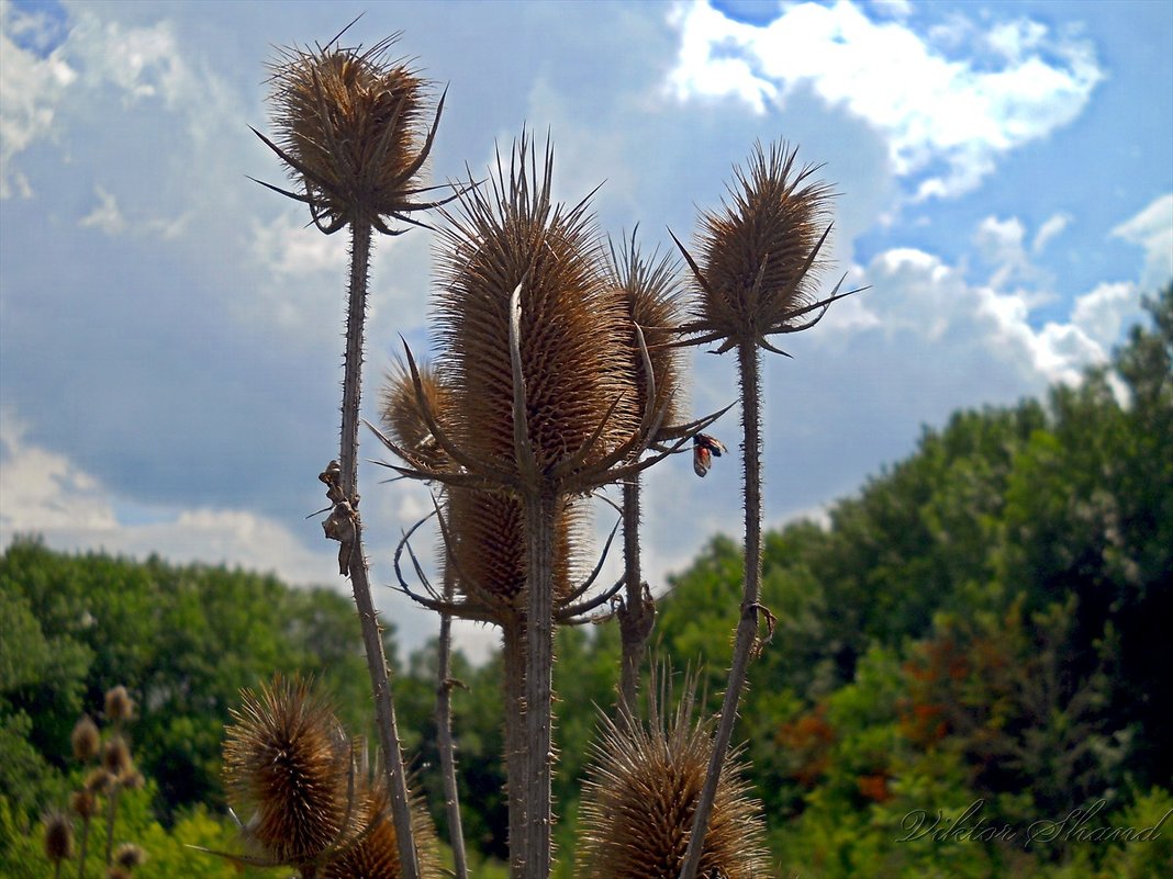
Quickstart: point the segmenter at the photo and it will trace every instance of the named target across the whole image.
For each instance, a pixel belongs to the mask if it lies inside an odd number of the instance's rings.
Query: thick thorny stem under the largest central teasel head
[[[526,879],[548,879],[551,864],[550,772],[554,743],[554,520],[558,498],[549,486],[524,498],[526,566]]]

